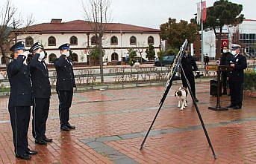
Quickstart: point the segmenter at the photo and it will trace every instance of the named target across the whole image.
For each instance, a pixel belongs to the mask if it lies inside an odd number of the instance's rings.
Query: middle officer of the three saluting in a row
[[[46,137],[46,120],[51,96],[49,73],[44,61],[46,53],[39,42],[36,42],[29,52],[33,54],[29,63],[33,91],[32,134],[37,144],[46,145],[52,141]]]

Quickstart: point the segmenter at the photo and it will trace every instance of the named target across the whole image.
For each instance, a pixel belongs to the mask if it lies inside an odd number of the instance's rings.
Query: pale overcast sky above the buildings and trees
[[[0,0],[2,7],[6,0]],[[10,0],[22,12],[22,16],[31,13],[35,23],[50,22],[51,19],[63,19],[68,22],[84,19],[83,0]],[[85,1],[85,0],[84,0]],[[112,0],[112,22],[134,24],[159,28],[168,18],[189,21],[196,13],[196,2],[200,0]],[[246,19],[256,19],[255,0],[231,0],[243,4]],[[207,1],[207,7],[214,0]]]

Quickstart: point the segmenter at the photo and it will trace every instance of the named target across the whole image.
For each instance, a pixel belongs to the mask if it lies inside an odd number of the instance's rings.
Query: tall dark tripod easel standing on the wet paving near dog
[[[183,67],[181,65],[181,59],[184,57],[184,50],[186,49],[186,47],[187,47],[187,39],[185,40],[184,44],[181,46],[181,49],[180,49],[178,55],[176,56],[176,59],[175,59],[175,62],[173,63],[173,65],[172,65],[172,68],[169,68],[169,73],[168,73],[168,76],[167,76],[168,81],[166,82],[165,90],[163,91],[162,98],[160,99],[160,103],[159,103],[160,106],[158,108],[157,114],[154,116],[152,124],[149,127],[149,131],[147,132],[146,137],[144,138],[143,142],[140,145],[140,150],[143,149],[143,145],[146,142],[147,137],[149,136],[149,132],[151,131],[152,126],[154,125],[154,121],[157,119],[157,116],[158,116],[158,114],[160,112],[160,109],[163,106],[163,102],[165,101],[166,96],[169,93],[170,88],[172,87],[172,81],[173,81],[173,79],[175,77],[175,74],[178,72],[178,68],[181,68],[181,71],[184,73],[184,69],[183,69]],[[201,116],[200,111],[199,111],[199,107],[198,107],[198,105],[196,103],[196,100],[195,100],[195,97],[193,96],[192,91],[191,91],[190,82],[188,81],[187,76],[186,76],[185,73],[184,73],[184,77],[186,79],[186,82],[187,82],[187,85],[188,85],[188,89],[190,91],[190,96],[193,99],[193,104],[196,107],[196,112],[197,112],[197,114],[199,116],[202,128],[205,131],[205,137],[207,138],[207,142],[210,145],[210,149],[211,149],[211,151],[213,153],[213,157],[214,157],[214,159],[216,159],[216,154],[215,154],[215,152],[213,150],[213,145],[210,142],[210,137],[207,134],[207,130],[205,128],[205,123],[204,123],[204,121],[202,119],[202,116]]]

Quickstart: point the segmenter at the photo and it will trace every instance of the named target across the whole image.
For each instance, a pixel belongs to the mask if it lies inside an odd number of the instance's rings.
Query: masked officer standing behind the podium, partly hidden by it
[[[232,61],[233,55],[229,52],[228,47],[223,47],[222,57],[220,59],[220,65],[230,65],[230,61]],[[229,72],[223,71],[222,72],[222,88],[223,88],[223,95],[227,95],[227,82],[228,82]]]

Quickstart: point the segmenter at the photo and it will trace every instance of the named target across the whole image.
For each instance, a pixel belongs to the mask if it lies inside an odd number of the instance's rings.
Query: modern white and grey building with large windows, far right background
[[[216,29],[218,33],[219,30]],[[222,27],[222,46],[232,43],[241,45],[244,53],[256,55],[256,20],[245,19],[237,27]],[[200,59],[202,54],[201,33],[193,44],[193,54]],[[215,58],[217,39],[213,30],[204,30],[203,54]]]

